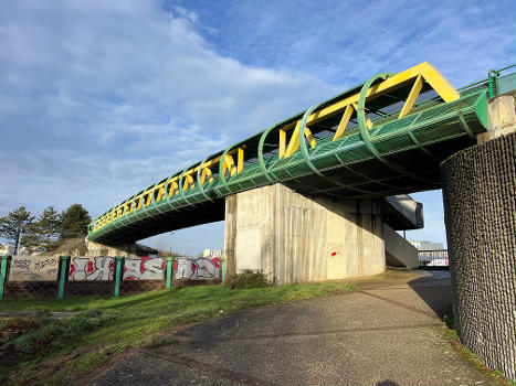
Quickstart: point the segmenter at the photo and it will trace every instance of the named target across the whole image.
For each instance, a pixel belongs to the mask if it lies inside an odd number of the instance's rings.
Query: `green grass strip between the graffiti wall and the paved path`
[[[11,343],[15,340],[21,354],[10,367],[0,368],[0,384],[71,384],[130,347],[175,344],[164,332],[180,325],[244,308],[352,290],[346,282],[242,290],[224,286],[179,286],[119,298],[3,299],[0,311],[80,313],[60,321],[43,315],[27,333],[13,337]],[[59,336],[56,343],[54,336]]]

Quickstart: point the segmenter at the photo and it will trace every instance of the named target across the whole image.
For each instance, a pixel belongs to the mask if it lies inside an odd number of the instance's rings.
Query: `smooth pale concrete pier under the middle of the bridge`
[[[225,202],[228,274],[262,271],[276,283],[385,271],[382,221],[375,201],[309,197],[275,184]]]

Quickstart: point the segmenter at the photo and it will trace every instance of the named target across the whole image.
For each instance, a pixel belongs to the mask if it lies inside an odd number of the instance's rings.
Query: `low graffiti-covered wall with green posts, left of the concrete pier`
[[[119,260],[119,264],[117,264]],[[113,256],[2,257],[0,293],[7,298],[109,297],[150,291],[178,283],[220,282],[221,258]],[[63,265],[66,265],[63,267]],[[185,267],[186,269],[179,268]],[[117,272],[117,270],[119,271]],[[115,289],[118,287],[118,291]]]

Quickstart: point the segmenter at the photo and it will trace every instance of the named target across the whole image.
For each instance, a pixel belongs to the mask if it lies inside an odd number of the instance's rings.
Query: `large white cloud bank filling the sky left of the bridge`
[[[1,13],[2,213],[82,202],[97,215],[335,90],[217,54],[183,8],[22,1]]]

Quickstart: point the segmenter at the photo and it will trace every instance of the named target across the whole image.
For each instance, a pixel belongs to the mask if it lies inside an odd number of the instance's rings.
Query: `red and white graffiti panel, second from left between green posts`
[[[114,257],[72,257],[70,261],[69,280],[113,280],[114,271]]]

